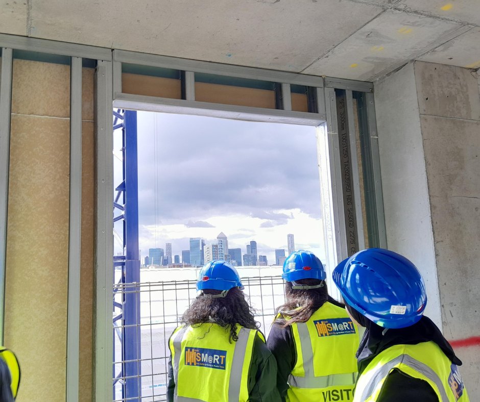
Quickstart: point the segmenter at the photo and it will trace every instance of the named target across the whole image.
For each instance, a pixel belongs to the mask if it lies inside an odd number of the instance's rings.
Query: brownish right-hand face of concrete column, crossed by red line
[[[448,340],[471,338],[480,333],[480,96],[476,74],[466,68],[417,62],[415,79],[443,332]],[[464,362],[461,373],[475,400],[480,394],[480,347],[455,351]]]

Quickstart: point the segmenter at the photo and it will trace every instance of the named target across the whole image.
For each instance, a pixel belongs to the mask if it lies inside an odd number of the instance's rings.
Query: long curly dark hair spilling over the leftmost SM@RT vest
[[[230,332],[229,341],[237,341],[236,326],[241,325],[250,330],[257,330],[260,323],[255,321],[254,310],[247,303],[246,295],[238,288],[232,288],[225,297],[208,297],[220,294],[219,290],[205,289],[205,295],[198,296],[185,311],[181,322],[186,325],[214,323]]]

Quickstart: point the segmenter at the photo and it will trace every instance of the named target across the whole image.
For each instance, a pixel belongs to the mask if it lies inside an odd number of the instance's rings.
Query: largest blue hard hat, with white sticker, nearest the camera
[[[423,315],[422,275],[405,257],[383,248],[355,253],[333,270],[333,282],[352,308],[384,328],[404,328]]]

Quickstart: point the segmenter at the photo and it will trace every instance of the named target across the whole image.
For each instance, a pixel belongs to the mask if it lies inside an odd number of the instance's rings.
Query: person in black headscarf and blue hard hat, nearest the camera
[[[333,281],[366,331],[357,351],[355,402],[466,402],[460,359],[423,315],[417,267],[390,250],[369,248],[342,261]]]

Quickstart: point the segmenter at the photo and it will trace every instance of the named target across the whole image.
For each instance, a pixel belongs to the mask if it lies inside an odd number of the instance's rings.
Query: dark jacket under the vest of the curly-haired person
[[[232,373],[236,375],[237,373]],[[248,393],[250,402],[279,402],[276,388],[277,363],[267,345],[257,335],[253,343],[252,362],[248,372]],[[173,402],[175,380],[172,357],[169,358],[169,373],[166,400]],[[209,401],[217,402],[217,401]],[[225,401],[226,402],[226,401]]]

